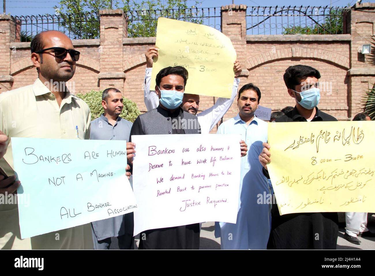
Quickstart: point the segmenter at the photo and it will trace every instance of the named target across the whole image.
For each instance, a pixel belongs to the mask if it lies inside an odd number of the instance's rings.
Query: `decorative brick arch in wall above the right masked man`
[[[332,51],[306,47],[289,47],[283,49],[272,49],[268,52],[258,54],[248,58],[247,68],[250,70],[270,61],[286,58],[313,58],[317,60],[328,61],[340,67],[349,69],[349,58]]]

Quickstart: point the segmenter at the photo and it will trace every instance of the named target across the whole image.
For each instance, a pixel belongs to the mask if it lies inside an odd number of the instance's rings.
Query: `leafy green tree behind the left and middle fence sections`
[[[156,36],[157,17],[182,19],[187,22],[202,24],[203,19],[196,18],[195,6],[189,7],[186,0],[60,0],[55,6],[60,16],[60,26],[75,34],[77,39],[98,39],[100,23],[94,13],[102,9],[123,9],[128,16],[128,37]],[[195,1],[198,4],[198,1]],[[171,12],[171,9],[177,9]],[[187,10],[186,10],[187,9]],[[136,12],[135,12],[136,11]],[[194,18],[195,17],[195,18]]]

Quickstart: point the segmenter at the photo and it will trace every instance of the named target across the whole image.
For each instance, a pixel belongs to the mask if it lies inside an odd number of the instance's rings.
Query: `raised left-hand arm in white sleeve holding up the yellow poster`
[[[150,90],[153,58],[157,57],[157,48],[151,47],[145,52],[146,57],[146,75],[144,77],[144,103],[147,111],[159,106],[159,98],[154,90]]]

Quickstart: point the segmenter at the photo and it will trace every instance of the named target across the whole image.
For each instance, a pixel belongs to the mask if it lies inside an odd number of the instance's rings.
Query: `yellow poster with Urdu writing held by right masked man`
[[[375,122],[273,122],[267,165],[281,215],[375,212]]]

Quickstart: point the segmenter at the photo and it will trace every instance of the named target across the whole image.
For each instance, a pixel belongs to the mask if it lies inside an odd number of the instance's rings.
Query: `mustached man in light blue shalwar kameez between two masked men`
[[[239,211],[237,223],[216,222],[215,237],[221,237],[222,249],[266,249],[270,235],[270,194],[258,156],[267,142],[267,122],[258,119],[261,92],[253,84],[238,92],[239,114],[223,122],[218,134],[241,134],[248,154],[241,159]]]

